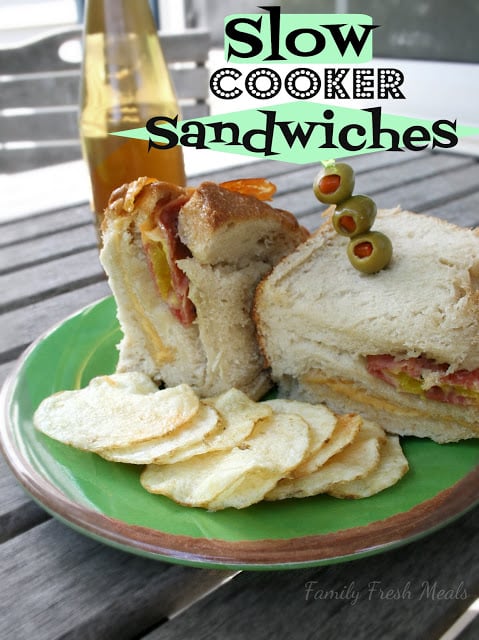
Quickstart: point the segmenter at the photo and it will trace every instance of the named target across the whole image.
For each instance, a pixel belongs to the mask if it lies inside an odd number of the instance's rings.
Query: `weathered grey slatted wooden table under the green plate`
[[[464,226],[479,223],[474,158],[376,153],[353,164],[358,188],[379,206],[401,204]],[[315,228],[315,172],[271,161],[207,177],[264,175],[278,186],[276,206]],[[2,381],[38,335],[109,294],[91,219],[85,204],[0,225]],[[30,500],[1,457],[0,495],[3,640],[436,639],[479,594],[477,508],[425,538],[368,558],[232,572],[149,560],[84,537]],[[460,638],[478,634],[476,618]]]

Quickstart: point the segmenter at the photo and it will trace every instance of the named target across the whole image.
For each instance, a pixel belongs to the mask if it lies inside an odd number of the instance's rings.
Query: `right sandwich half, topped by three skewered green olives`
[[[478,437],[479,233],[378,211],[393,256],[366,274],[331,215],[256,292],[258,340],[280,394],[399,435]]]

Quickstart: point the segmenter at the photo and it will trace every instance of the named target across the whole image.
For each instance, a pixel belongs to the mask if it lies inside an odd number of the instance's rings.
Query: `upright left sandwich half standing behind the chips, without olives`
[[[233,188],[139,178],[112,193],[100,260],[123,332],[117,372],[188,384],[201,397],[236,387],[257,399],[270,388],[254,291],[309,233],[289,212]]]

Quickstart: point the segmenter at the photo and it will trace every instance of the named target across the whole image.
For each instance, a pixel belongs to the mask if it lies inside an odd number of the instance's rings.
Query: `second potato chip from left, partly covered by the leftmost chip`
[[[145,440],[138,444],[113,449],[102,449],[98,453],[102,458],[113,462],[128,464],[150,464],[157,458],[169,456],[177,449],[197,444],[213,431],[219,424],[216,411],[203,403],[195,416],[170,433],[153,440]]]

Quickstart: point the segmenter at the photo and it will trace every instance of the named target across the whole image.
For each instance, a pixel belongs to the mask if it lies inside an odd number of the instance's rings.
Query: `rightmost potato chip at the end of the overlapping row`
[[[409,464],[397,436],[386,436],[379,465],[367,476],[333,484],[328,493],[335,498],[368,498],[392,487],[409,470]]]

